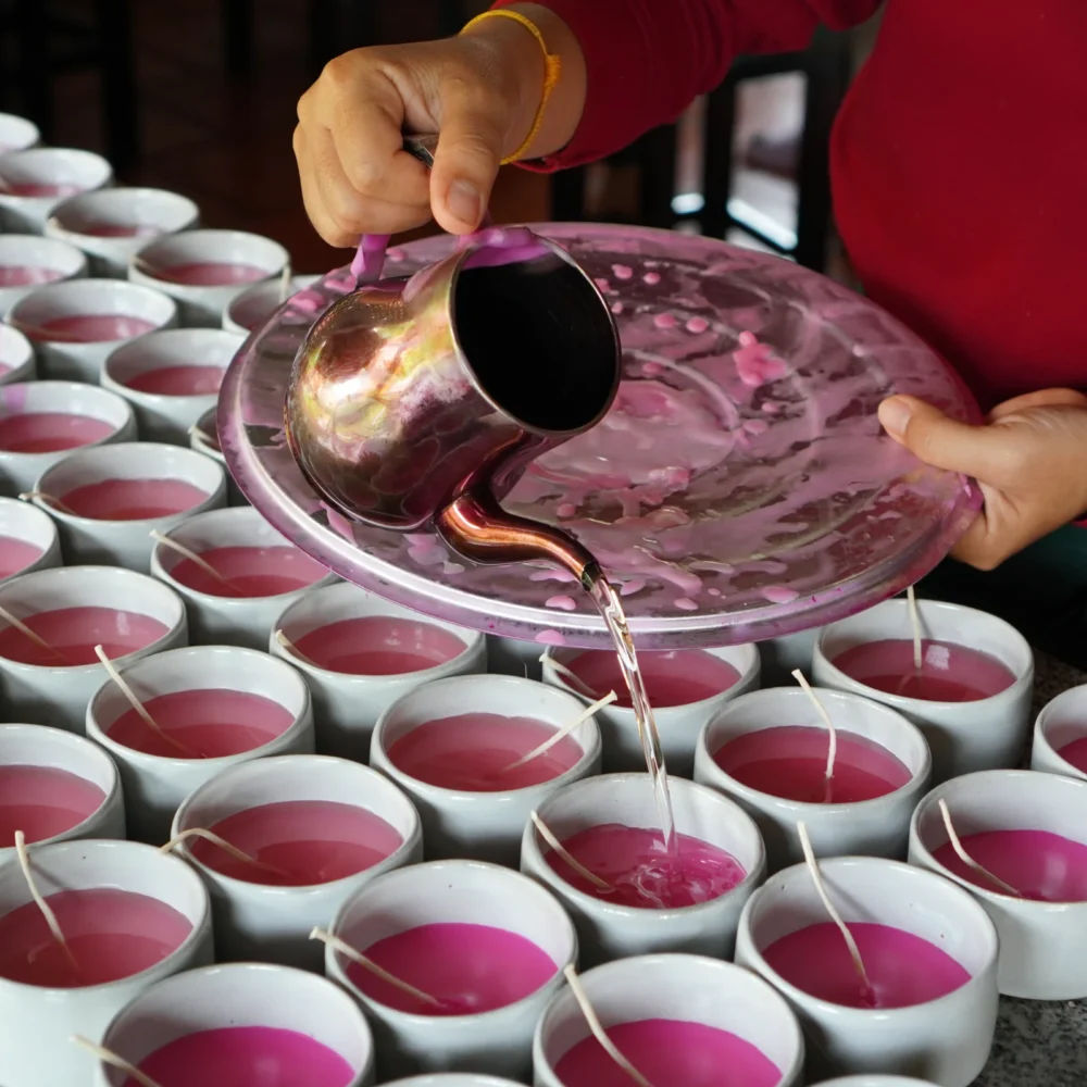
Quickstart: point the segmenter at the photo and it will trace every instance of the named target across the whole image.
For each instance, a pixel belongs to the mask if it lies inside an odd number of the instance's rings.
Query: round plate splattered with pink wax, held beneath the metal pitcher
[[[504,505],[597,554],[639,647],[755,641],[842,617],[917,580],[969,524],[976,488],[887,438],[876,407],[909,392],[960,418],[976,408],[878,307],[712,239],[535,229],[597,279],[624,376],[607,418],[532,464]],[[392,250],[386,274],[408,275],[453,243]],[[295,296],[234,361],[220,437],[247,498],[335,573],[428,615],[523,640],[609,645],[564,572],[474,565],[433,536],[349,524],[302,477],[283,434],[291,363],[316,314],[352,287],[339,270]]]

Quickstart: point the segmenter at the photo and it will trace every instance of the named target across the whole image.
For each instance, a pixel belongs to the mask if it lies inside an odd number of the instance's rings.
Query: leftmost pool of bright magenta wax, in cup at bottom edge
[[[354,1069],[298,1030],[227,1026],[187,1034],[154,1050],[139,1070],[159,1087],[347,1087]],[[135,1087],[132,1079],[125,1087]]]

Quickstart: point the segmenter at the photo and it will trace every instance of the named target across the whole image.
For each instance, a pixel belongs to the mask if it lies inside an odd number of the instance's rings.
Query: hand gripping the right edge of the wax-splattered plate
[[[1045,389],[999,404],[983,426],[913,397],[879,405],[884,429],[934,467],[973,476],[985,508],[951,552],[992,570],[1087,513],[1087,396]]]

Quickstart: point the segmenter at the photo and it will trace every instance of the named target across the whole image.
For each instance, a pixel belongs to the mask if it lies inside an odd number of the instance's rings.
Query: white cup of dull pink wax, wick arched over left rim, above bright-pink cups
[[[326,800],[364,809],[403,839],[377,864],[352,876],[304,887],[274,887],[223,875],[197,860],[190,844],[179,851],[199,870],[211,894],[215,948],[221,959],[253,959],[320,971],[322,945],[310,939],[327,927],[340,907],[371,879],[423,860],[423,830],[411,801],[368,766],[318,754],[258,759],[224,770],[191,792],[177,809],[172,837],[263,804]]]

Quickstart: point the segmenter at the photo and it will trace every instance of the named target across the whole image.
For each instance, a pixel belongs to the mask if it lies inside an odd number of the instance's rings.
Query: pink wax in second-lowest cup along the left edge
[[[90,819],[105,794],[66,770],[52,766],[0,766],[0,847],[15,845],[22,830],[28,842],[64,834]]]

